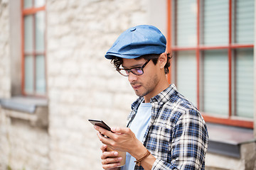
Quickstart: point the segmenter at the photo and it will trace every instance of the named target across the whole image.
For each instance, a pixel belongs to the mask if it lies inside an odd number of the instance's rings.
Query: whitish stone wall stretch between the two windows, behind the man
[[[146,23],[146,3],[48,1],[50,169],[101,169],[101,143],[87,119],[125,126],[136,98],[104,55],[120,33]]]

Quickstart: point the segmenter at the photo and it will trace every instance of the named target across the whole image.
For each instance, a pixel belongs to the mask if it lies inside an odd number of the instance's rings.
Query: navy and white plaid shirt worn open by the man
[[[140,97],[132,104],[131,121]],[[143,143],[156,161],[152,169],[204,169],[208,132],[203,117],[191,102],[176,91],[174,84],[151,98],[151,122]],[[143,169],[135,166],[134,169]]]

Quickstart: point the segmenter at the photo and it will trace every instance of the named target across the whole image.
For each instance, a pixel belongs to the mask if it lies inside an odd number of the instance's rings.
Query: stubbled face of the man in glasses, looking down
[[[140,60],[123,59],[122,67],[124,69],[131,69],[133,67],[142,67],[147,60],[143,58]],[[154,64],[151,60],[143,69],[144,74],[135,75],[132,72],[129,73],[128,81],[132,85],[137,96],[154,97],[156,95],[157,85],[160,79],[160,69],[158,64]]]

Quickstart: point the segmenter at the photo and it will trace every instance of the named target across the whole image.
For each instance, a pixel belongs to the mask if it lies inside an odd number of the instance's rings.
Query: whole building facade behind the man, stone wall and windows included
[[[126,125],[137,96],[104,55],[139,24],[166,35],[168,79],[208,123],[206,169],[256,169],[256,3],[210,2],[1,0],[0,169],[102,169],[87,120]]]

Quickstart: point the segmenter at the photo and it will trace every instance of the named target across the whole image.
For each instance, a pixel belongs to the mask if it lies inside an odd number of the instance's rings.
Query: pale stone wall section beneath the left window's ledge
[[[49,169],[47,130],[31,126],[25,120],[6,116],[8,112],[14,111],[1,109],[0,112],[0,169]]]

